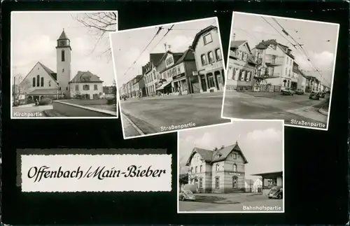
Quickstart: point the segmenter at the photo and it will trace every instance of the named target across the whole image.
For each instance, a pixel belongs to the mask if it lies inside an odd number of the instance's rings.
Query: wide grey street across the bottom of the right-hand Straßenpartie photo
[[[260,95],[259,95],[260,94]],[[309,94],[293,96],[276,93],[246,94],[226,92],[223,117],[241,119],[281,119],[286,125],[301,125],[325,129],[327,115],[318,112],[328,98],[309,99]]]

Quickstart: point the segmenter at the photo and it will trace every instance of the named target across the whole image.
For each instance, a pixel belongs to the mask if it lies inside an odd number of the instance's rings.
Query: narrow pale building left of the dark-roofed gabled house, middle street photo
[[[156,87],[158,83],[158,71],[156,65],[158,64],[158,62],[160,62],[160,59],[162,59],[163,55],[164,52],[151,53],[150,61],[146,65],[142,66],[142,74],[144,76],[145,81],[146,95],[148,97],[156,94]]]

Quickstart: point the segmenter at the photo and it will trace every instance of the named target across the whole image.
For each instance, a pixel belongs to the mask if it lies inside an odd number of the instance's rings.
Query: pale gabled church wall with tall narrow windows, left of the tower
[[[41,77],[44,78],[44,86],[41,87],[33,87],[33,78],[35,77],[36,80],[36,76],[40,76],[40,80]],[[50,85],[49,85],[50,83]],[[41,84],[40,84],[41,85]],[[34,66],[33,69],[31,69],[31,71],[29,71],[27,77],[25,77],[24,80],[22,80],[22,82],[20,83],[20,87],[22,92],[32,92],[33,90],[42,90],[42,89],[57,89],[57,83],[55,80],[52,79],[52,77],[45,71],[45,69],[43,69],[43,67],[40,64],[36,64]]]

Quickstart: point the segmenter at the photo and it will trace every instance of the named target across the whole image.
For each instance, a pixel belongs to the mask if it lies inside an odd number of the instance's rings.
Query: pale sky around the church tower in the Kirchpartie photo
[[[55,47],[64,29],[71,40],[71,79],[78,71],[90,71],[99,76],[104,85],[112,85],[115,80],[113,61],[111,56],[103,54],[110,48],[109,34],[99,41],[96,31],[76,20],[83,16],[84,13],[76,12],[13,13],[11,48],[13,76],[17,83],[27,76],[36,62],[57,72]]]

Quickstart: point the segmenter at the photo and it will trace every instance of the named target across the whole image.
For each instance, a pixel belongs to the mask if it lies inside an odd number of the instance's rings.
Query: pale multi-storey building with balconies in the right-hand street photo
[[[256,91],[280,91],[292,85],[295,57],[291,54],[288,46],[277,43],[275,39],[270,39],[258,43],[252,49],[252,53],[260,66],[258,77],[262,78],[261,82],[265,82],[265,85],[267,85],[259,87],[264,83],[257,84]]]

